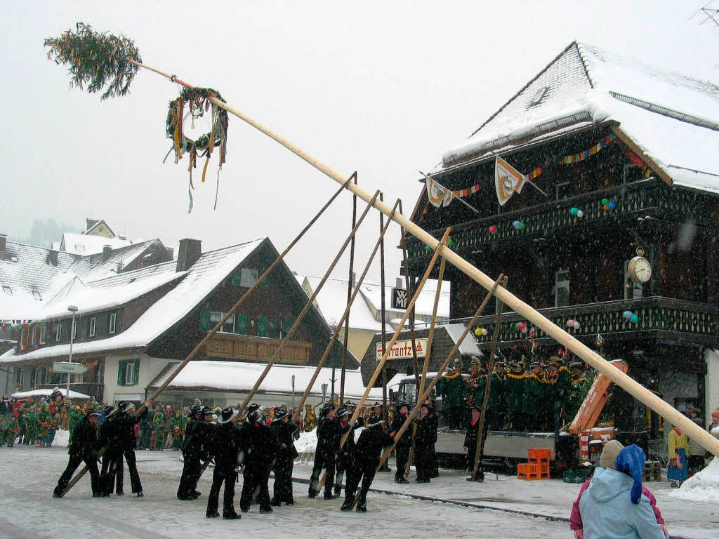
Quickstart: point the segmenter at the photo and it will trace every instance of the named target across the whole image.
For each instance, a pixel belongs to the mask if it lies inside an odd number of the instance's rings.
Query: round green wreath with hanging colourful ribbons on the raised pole
[[[168,117],[165,126],[165,132],[168,139],[172,139],[173,145],[168,152],[175,152],[175,163],[179,162],[184,155],[188,155],[190,172],[190,185],[188,193],[190,195],[190,211],[192,211],[192,190],[195,188],[192,183],[192,170],[197,168],[197,157],[207,157],[205,165],[202,168],[202,181],[205,181],[207,174],[207,165],[209,165],[210,157],[215,148],[218,148],[218,170],[217,185],[219,190],[219,171],[222,164],[226,160],[227,155],[227,124],[228,116],[225,109],[221,109],[210,101],[214,97],[219,101],[225,102],[220,93],[212,88],[183,88],[180,96],[170,101],[168,106]],[[187,107],[188,111],[185,111]],[[190,139],[185,134],[185,122],[191,118],[192,124],[196,119],[205,113],[211,114],[210,131],[203,134],[196,140]],[[167,159],[167,156],[165,156]],[[217,192],[215,193],[215,206],[217,206]]]

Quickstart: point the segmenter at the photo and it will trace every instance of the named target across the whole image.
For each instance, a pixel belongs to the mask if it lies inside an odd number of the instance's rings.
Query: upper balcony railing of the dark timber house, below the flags
[[[604,198],[615,203],[613,210],[605,211],[601,205]],[[697,193],[672,189],[661,180],[651,178],[452,225],[453,249],[462,251],[492,241],[543,236],[563,226],[609,223],[625,216],[645,216],[650,211],[667,221],[683,223],[687,218],[693,218],[701,226],[712,226],[711,212],[705,207],[709,203]],[[569,213],[571,208],[581,209],[584,212],[582,218],[572,216]],[[514,221],[521,221],[526,228],[516,229]],[[490,226],[497,227],[494,234],[490,232]],[[444,229],[429,233],[439,239]],[[424,244],[418,239],[408,239],[407,247],[410,259],[429,257]]]

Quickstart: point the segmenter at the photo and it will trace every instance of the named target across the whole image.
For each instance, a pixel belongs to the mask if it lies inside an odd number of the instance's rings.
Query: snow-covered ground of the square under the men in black
[[[178,535],[189,538],[224,538],[249,534],[253,538],[329,537],[342,533],[348,539],[416,537],[476,538],[570,538],[564,521],[519,515],[502,510],[535,512],[547,517],[567,518],[579,485],[558,480],[520,482],[509,476],[489,474],[485,483],[464,481],[454,471],[441,471],[431,484],[395,484],[393,474],[377,474],[372,485],[398,493],[425,494],[501,510],[461,507],[428,502],[395,494],[370,493],[367,515],[339,511],[340,500],[308,499],[307,485],[294,484],[296,505],[275,508],[260,515],[257,506],[242,520],[208,520],[204,517],[211,474],[206,473],[199,489],[203,496],[194,502],[175,497],[182,463],[175,451],[137,451],[145,497],[129,495],[93,499],[87,478],[63,499],[52,499],[52,488],[67,464],[63,448],[0,448],[0,538],[114,537],[164,539]],[[295,466],[296,478],[306,478],[311,463]],[[414,478],[414,473],[410,479]],[[129,491],[129,477],[125,471]],[[684,502],[667,497],[666,483],[647,484],[661,507],[672,535],[685,538],[715,538],[719,526],[715,503]],[[270,489],[272,488],[270,482]],[[236,507],[242,479],[237,484]]]

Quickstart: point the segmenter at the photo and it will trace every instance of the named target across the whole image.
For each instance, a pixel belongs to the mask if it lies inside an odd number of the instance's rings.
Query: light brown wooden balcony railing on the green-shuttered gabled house
[[[266,363],[280,348],[278,338],[236,335],[234,333],[215,333],[205,345],[205,354],[218,359],[242,359]],[[302,341],[290,341],[278,360],[280,363],[306,365],[309,363],[312,344]]]

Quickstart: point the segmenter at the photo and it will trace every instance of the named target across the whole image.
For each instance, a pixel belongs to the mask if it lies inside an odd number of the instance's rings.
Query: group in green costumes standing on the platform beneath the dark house
[[[486,424],[490,430],[512,428],[547,432],[559,436],[562,421],[572,408],[572,395],[582,381],[582,364],[567,365],[560,356],[548,361],[536,360],[526,367],[521,360],[497,361],[490,373]],[[454,360],[454,369],[437,383],[442,397],[442,414],[449,428],[460,429],[477,419],[470,410],[480,411],[487,387],[487,370],[472,356],[469,377],[462,376],[462,363]],[[585,392],[586,393],[586,392]],[[582,395],[583,398],[584,395]]]

